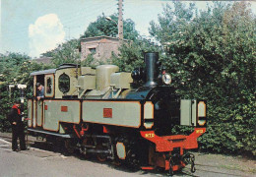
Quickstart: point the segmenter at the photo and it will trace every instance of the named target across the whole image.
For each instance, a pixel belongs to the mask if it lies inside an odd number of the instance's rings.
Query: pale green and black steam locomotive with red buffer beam
[[[170,173],[190,163],[194,172],[187,149],[198,148],[197,138],[206,132],[206,102],[175,94],[158,53],[145,53],[144,60],[145,67],[132,73],[75,64],[33,72],[29,132],[63,140],[70,151],[96,154],[99,161]],[[43,99],[36,99],[36,83],[44,86]],[[195,128],[188,136],[172,135],[174,125]]]

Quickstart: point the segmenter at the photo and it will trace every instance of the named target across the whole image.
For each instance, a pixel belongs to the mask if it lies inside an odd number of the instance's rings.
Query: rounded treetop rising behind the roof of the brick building
[[[89,25],[88,29],[85,31],[84,35],[81,36],[81,38],[101,35],[116,36],[118,33],[118,27],[116,24],[118,22],[118,16],[114,14],[109,17],[112,19],[112,21],[107,21],[104,14],[98,16],[96,22]],[[135,24],[132,20],[127,19],[123,21],[123,34],[125,39],[135,40],[138,37],[139,33],[135,29]]]

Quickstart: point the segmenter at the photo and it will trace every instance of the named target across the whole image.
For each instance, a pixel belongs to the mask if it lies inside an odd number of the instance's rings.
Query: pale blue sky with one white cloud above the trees
[[[135,29],[149,36],[150,22],[158,22],[166,3],[172,4],[167,0],[124,0],[123,19],[133,20]],[[204,10],[212,2],[195,3]],[[102,13],[117,13],[117,0],[0,0],[0,53],[39,57],[68,39],[80,37]]]

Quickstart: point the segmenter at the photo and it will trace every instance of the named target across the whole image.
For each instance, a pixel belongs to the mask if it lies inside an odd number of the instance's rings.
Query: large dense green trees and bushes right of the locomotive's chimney
[[[208,101],[208,132],[202,148],[256,154],[255,16],[245,2],[198,13],[193,4],[163,8],[150,33],[167,47],[163,63],[173,87]]]

